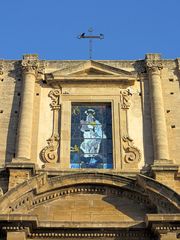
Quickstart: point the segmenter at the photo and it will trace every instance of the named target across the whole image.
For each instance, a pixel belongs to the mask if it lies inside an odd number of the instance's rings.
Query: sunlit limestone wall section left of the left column
[[[21,100],[20,61],[1,61],[0,75],[0,168],[15,157],[16,133]]]

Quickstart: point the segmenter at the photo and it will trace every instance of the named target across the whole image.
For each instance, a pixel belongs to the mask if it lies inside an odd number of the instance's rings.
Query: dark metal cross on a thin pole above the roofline
[[[93,51],[93,46],[92,46],[92,41],[93,39],[104,39],[104,34],[100,33],[99,35],[92,35],[93,29],[89,28],[88,29],[89,34],[86,35],[86,33],[81,33],[78,36],[78,39],[89,39],[89,59],[92,59],[92,51]]]

